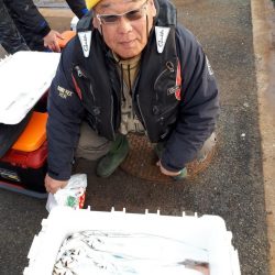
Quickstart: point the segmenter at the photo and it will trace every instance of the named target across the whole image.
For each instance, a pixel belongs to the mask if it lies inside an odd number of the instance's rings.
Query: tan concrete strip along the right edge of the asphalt
[[[252,1],[271,274],[275,274],[275,2]]]

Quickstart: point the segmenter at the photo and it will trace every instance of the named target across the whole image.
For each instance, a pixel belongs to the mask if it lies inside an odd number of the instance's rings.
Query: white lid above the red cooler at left
[[[0,61],[0,123],[18,124],[48,89],[59,53],[18,52]]]

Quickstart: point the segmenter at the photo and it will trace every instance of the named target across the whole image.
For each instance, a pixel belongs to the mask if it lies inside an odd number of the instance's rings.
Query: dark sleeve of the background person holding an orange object
[[[43,37],[50,33],[51,28],[48,23],[32,0],[11,0],[6,1],[6,4],[16,14],[18,21],[25,28],[36,34],[41,34]]]

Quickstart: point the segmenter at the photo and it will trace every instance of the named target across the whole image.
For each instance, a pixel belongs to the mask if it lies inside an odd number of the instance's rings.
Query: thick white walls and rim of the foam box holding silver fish
[[[173,217],[147,212],[74,210],[68,207],[54,208],[48,218],[42,221],[42,230],[34,237],[28,255],[29,266],[23,274],[52,275],[64,239],[82,230],[112,230],[173,238],[194,248],[194,251],[188,251],[188,258],[208,262],[210,275],[241,274],[238,252],[231,244],[232,234],[218,216]]]

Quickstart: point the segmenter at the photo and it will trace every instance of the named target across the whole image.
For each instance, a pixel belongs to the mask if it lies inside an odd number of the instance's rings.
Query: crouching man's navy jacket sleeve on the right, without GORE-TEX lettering
[[[196,158],[215,131],[219,114],[216,79],[200,44],[184,28],[177,29],[176,43],[182,65],[182,101],[176,127],[161,160],[166,169],[174,172]]]

